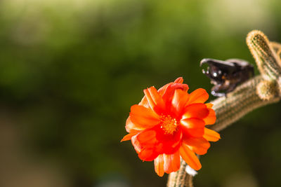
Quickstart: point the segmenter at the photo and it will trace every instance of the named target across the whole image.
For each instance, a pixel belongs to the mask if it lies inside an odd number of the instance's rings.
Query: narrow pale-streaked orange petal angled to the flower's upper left
[[[150,87],[148,89],[143,90],[145,92],[145,97],[148,99],[148,104],[150,105],[150,109],[155,111],[156,113],[162,113],[165,109],[165,103],[162,97],[159,95],[155,87]]]

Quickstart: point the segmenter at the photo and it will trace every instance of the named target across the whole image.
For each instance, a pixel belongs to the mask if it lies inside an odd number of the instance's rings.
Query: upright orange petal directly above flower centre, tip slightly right
[[[188,92],[185,92],[181,89],[175,90],[174,97],[171,101],[171,112],[174,114],[181,115],[185,107],[185,104],[188,101],[188,98],[189,98]]]

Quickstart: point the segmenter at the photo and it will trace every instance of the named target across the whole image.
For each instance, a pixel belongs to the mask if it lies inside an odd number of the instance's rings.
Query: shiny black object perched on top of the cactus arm
[[[228,92],[235,90],[236,86],[254,76],[254,67],[249,62],[240,59],[229,59],[226,61],[204,58],[200,62],[208,64],[203,74],[211,79],[214,84],[211,95],[216,97],[226,96]]]

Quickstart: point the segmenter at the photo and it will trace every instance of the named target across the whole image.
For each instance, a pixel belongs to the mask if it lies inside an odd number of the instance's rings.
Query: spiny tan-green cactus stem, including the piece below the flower
[[[261,75],[238,86],[227,97],[211,102],[217,118],[210,126],[212,130],[223,130],[250,111],[281,99],[281,44],[269,42],[263,32],[254,30],[247,36],[247,46]],[[169,174],[168,187],[193,186],[192,176],[185,172],[185,167],[182,161],[178,172]]]

